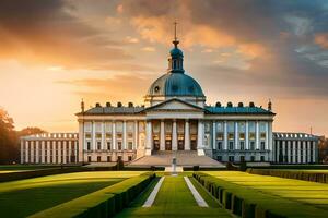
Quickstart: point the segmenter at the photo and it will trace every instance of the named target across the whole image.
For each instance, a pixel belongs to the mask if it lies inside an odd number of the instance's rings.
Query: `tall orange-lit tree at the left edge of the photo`
[[[14,122],[8,112],[0,108],[0,164],[19,160],[17,136]]]

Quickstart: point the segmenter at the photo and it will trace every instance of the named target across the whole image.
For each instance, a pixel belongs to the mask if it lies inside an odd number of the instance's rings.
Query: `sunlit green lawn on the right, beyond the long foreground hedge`
[[[230,183],[244,186],[247,190],[250,189],[272,196],[301,203],[301,210],[302,205],[323,209],[323,213],[327,213],[328,217],[328,184],[249,174],[237,171],[207,173]]]

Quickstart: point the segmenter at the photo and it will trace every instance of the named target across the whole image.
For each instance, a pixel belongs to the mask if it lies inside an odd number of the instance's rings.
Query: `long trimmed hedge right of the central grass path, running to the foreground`
[[[225,209],[243,218],[327,217],[327,210],[325,209],[266,194],[203,172],[194,172],[192,177]]]

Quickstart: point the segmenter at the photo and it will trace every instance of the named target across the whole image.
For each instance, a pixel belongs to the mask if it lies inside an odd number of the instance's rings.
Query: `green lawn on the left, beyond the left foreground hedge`
[[[142,172],[95,171],[0,183],[0,217],[26,217]]]

